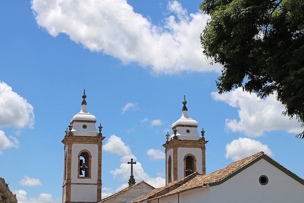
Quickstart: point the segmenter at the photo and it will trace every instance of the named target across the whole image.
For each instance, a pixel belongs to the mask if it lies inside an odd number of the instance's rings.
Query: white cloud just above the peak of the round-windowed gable
[[[226,145],[225,157],[226,159],[231,158],[233,161],[237,161],[261,151],[268,156],[273,156],[268,146],[263,145],[260,141],[250,138],[238,138]]]

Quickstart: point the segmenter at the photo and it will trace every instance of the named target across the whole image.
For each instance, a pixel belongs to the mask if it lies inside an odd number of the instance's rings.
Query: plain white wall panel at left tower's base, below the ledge
[[[71,184],[71,201],[96,202],[97,185]]]

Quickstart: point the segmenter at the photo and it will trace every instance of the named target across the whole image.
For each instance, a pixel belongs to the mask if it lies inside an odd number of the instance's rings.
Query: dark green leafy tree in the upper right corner
[[[304,0],[205,0],[203,53],[223,65],[219,93],[277,94],[304,127]],[[304,131],[296,135],[304,138]]]

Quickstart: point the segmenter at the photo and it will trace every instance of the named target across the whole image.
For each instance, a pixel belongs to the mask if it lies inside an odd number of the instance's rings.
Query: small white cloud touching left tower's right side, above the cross
[[[111,135],[105,145],[103,145],[102,149],[119,156],[131,154],[130,148],[126,146],[125,143],[121,141],[121,138],[117,137],[116,135]]]

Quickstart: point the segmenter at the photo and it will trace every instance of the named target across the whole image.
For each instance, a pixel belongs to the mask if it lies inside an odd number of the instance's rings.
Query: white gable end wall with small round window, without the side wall
[[[259,177],[266,175],[268,184]],[[261,159],[221,185],[210,187],[212,202],[229,198],[230,202],[303,202],[304,186]]]

